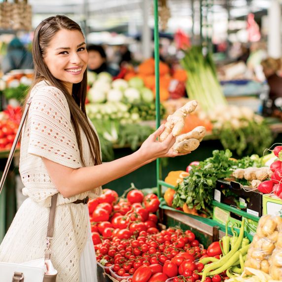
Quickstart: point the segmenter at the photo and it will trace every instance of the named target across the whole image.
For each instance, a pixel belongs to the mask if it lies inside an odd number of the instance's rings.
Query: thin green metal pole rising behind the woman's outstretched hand
[[[156,84],[156,128],[159,128],[161,124],[160,118],[160,70],[159,70],[159,17],[158,17],[158,0],[154,0],[154,20],[155,20],[155,28],[154,28],[154,54],[155,54],[155,84]],[[159,184],[159,180],[161,179],[161,163],[158,158],[156,161],[156,171],[157,171],[157,187],[158,187],[158,196],[161,197],[161,185]]]

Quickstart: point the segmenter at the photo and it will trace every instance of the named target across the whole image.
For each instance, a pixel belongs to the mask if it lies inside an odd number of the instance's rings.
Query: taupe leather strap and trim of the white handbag
[[[17,131],[15,140],[13,142],[13,145],[11,147],[11,150],[10,150],[10,153],[9,153],[9,156],[8,156],[8,160],[7,160],[7,163],[6,163],[6,166],[5,166],[5,169],[4,169],[1,181],[0,181],[0,194],[1,194],[1,191],[3,189],[3,185],[4,185],[5,179],[7,177],[10,165],[12,163],[12,159],[13,159],[13,156],[14,156],[14,153],[15,153],[16,145],[17,145],[17,143],[19,141],[20,134],[21,134],[22,129],[23,129],[23,125],[24,125],[24,123],[26,121],[26,118],[27,118],[27,115],[28,115],[28,111],[29,111],[29,108],[31,106],[31,100],[32,100],[32,98],[29,98],[28,101],[27,101],[26,108],[25,108],[25,111],[23,113],[20,125],[19,125],[19,129]],[[46,248],[45,248],[45,264],[47,265],[47,268],[48,268],[48,265],[50,265],[50,256],[51,256],[51,252],[52,252],[51,249],[50,249],[50,246],[51,246],[50,240],[53,239],[53,231],[54,231],[54,221],[55,221],[55,212],[56,212],[56,206],[57,206],[57,198],[58,198],[58,193],[51,197],[51,208],[50,208],[50,215],[49,215],[49,222],[48,222],[48,231],[47,231],[47,237],[46,237],[47,242],[46,242]],[[57,276],[57,274],[55,274],[55,275],[46,275],[45,274],[43,282],[44,281],[46,281],[46,282],[47,281],[48,282],[55,282],[56,281],[56,276]],[[20,282],[24,281],[23,274],[15,272],[14,276],[12,278],[12,282],[18,282],[18,281],[20,281]]]

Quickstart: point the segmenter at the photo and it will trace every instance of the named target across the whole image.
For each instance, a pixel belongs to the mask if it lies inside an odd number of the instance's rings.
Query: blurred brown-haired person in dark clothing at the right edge
[[[280,113],[279,116],[282,117],[282,77],[277,74],[281,68],[281,59],[269,57],[261,62],[261,66],[269,85],[269,114]]]

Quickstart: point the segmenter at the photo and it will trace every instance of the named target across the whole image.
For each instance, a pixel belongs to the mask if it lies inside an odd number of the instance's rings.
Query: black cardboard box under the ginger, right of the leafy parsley
[[[228,193],[224,193],[227,191]],[[213,199],[217,202],[240,208],[240,210],[255,216],[262,215],[263,193],[253,188],[243,186],[235,181],[217,180]]]

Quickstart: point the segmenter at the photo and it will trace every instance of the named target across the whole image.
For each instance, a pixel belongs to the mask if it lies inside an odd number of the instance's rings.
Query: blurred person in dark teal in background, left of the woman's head
[[[1,69],[3,73],[10,70],[33,69],[32,53],[28,51],[18,37],[14,37],[7,47],[7,54],[3,57]]]

